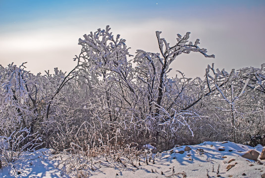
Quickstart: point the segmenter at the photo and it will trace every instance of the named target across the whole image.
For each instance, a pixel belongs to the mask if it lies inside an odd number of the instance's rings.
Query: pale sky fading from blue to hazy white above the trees
[[[27,62],[34,74],[58,67],[69,72],[81,50],[78,39],[110,25],[135,55],[159,52],[156,31],[171,45],[177,34],[215,58],[181,54],[170,75],[203,77],[208,64],[232,68],[265,63],[265,0],[0,0],[0,64]]]

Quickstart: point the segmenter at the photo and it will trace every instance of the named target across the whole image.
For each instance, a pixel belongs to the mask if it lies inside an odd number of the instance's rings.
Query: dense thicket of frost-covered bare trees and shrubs
[[[212,64],[204,79],[186,78],[172,66],[178,55],[214,55],[199,40],[189,42],[190,33],[178,34],[174,45],[160,34],[160,53],[132,56],[108,26],[91,32],[79,39],[82,49],[69,73],[0,66],[1,162],[36,146],[95,156],[147,143],[163,151],[265,134],[265,64],[231,72]]]

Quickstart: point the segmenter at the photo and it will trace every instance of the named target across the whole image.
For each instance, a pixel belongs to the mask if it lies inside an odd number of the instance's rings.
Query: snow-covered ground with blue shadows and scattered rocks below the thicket
[[[180,146],[153,154],[152,159],[120,157],[120,160],[93,158],[92,169],[87,170],[89,178],[261,178],[265,174],[265,160],[243,158],[249,150],[260,153],[264,147],[251,147],[233,142],[204,142],[198,145]],[[61,160],[69,155],[52,154],[52,149],[40,149],[26,153],[22,159],[0,169],[0,178],[71,178]],[[141,157],[141,156],[140,156]],[[155,159],[154,159],[155,157]],[[155,161],[154,161],[155,160]],[[140,164],[139,164],[140,163]],[[89,168],[91,163],[88,162]],[[230,165],[230,166],[229,166]],[[86,175],[79,170],[79,178]]]

